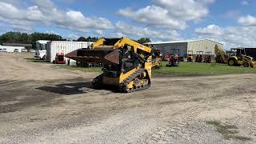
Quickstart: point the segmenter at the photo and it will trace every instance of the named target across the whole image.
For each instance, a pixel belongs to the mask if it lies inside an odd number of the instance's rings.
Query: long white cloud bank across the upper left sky
[[[0,2],[0,19],[13,26],[58,26],[65,29],[85,32],[88,29],[112,29],[106,18],[86,17],[76,10],[59,10],[50,0],[35,0],[34,6],[18,8],[8,2]],[[29,29],[29,28],[27,28]]]

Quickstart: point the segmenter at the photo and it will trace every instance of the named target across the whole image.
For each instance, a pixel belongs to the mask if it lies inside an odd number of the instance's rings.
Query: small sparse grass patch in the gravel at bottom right
[[[213,125],[217,128],[218,133],[222,134],[222,136],[227,139],[237,139],[241,141],[247,141],[250,140],[251,138],[235,135],[238,134],[238,127],[234,125],[227,125],[227,124],[222,124],[221,122],[218,121],[207,121],[206,122],[208,125]]]

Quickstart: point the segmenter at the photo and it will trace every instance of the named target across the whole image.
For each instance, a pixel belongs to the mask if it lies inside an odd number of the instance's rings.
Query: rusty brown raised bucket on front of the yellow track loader
[[[65,55],[66,58],[78,62],[119,64],[118,49],[96,50],[96,49],[78,49]]]

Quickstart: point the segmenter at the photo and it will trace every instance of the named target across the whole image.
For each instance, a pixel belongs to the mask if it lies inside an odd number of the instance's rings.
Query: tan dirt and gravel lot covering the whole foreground
[[[31,57],[0,53],[0,143],[256,143],[256,74],[153,78],[118,94]]]

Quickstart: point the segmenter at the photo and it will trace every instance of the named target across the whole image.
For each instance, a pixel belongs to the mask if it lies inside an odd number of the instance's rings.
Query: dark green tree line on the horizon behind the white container
[[[62,38],[61,35],[58,34],[47,34],[47,33],[38,33],[34,32],[32,34],[21,33],[21,32],[6,32],[5,34],[0,35],[0,43],[24,43],[24,44],[32,44],[33,48],[35,48],[35,43],[38,40],[49,40],[49,41],[66,41],[65,38]],[[75,42],[96,42],[98,37],[80,37]],[[139,43],[143,44],[145,42],[151,42],[150,38],[140,38],[138,39]]]

